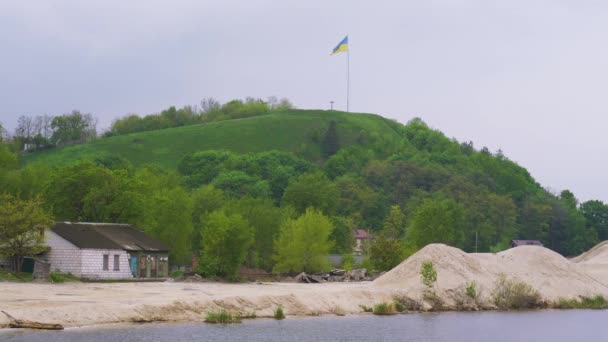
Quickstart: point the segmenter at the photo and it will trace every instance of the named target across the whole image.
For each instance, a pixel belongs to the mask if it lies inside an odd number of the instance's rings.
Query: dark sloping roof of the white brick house
[[[51,230],[78,248],[169,251],[164,243],[130,224],[56,222]]]

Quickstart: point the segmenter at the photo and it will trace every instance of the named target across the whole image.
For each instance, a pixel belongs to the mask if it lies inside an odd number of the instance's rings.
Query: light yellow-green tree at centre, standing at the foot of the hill
[[[334,244],[329,239],[334,227],[329,218],[309,208],[297,219],[281,225],[275,242],[275,273],[318,272],[330,267],[327,256]]]

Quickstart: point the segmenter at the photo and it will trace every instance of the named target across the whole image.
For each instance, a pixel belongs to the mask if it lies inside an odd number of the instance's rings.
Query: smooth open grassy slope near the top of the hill
[[[398,124],[378,115],[336,111],[291,110],[263,116],[133,133],[24,155],[24,163],[65,165],[104,155],[121,156],[134,165],[176,167],[186,154],[210,149],[237,153],[284,150],[308,160],[321,160],[320,141],[335,120],[342,146],[363,135],[398,137]],[[316,136],[316,138],[315,138]]]

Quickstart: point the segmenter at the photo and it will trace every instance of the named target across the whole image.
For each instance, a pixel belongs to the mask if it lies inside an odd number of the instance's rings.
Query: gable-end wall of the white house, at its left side
[[[47,260],[51,264],[51,272],[72,273],[80,277],[82,254],[80,248],[55,234],[52,230],[45,232],[46,244],[51,247]]]

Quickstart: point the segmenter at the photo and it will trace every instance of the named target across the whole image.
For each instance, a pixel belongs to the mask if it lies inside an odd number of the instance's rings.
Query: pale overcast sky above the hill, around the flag
[[[204,97],[287,97],[502,149],[553,191],[608,201],[605,1],[3,1],[0,122],[101,128]]]

